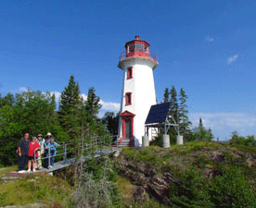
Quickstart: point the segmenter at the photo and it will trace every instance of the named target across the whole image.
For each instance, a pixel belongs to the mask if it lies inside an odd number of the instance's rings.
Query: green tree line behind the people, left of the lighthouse
[[[0,164],[16,163],[16,149],[25,132],[31,136],[45,136],[51,132],[58,140],[76,142],[82,131],[90,135],[106,134],[105,125],[97,117],[100,98],[91,87],[87,99],[81,96],[79,83],[70,76],[69,84],[61,92],[56,104],[55,94],[27,89],[21,93],[0,94]]]

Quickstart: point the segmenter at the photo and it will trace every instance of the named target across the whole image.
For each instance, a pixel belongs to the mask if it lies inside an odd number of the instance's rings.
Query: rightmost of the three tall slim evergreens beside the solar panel
[[[189,126],[192,124],[188,120],[188,110],[187,110],[187,105],[186,105],[186,99],[187,95],[184,89],[182,88],[179,94],[179,128],[180,128],[180,133],[186,138],[186,133],[189,130]]]

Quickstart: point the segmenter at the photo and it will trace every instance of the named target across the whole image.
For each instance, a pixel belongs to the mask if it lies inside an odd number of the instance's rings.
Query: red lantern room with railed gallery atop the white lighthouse
[[[144,57],[152,59],[158,64],[157,55],[149,50],[149,43],[144,40],[139,40],[139,36],[136,35],[133,41],[127,42],[125,44],[126,52],[122,52],[120,61],[129,57]]]

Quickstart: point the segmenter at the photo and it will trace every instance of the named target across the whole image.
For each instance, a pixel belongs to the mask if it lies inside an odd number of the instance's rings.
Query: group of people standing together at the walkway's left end
[[[57,153],[56,148],[58,143],[52,138],[52,134],[48,132],[45,139],[42,134],[38,134],[37,138],[32,137],[29,140],[30,134],[25,133],[24,138],[18,144],[18,164],[19,173],[25,171],[25,166],[28,165],[28,172],[35,172],[36,169],[41,170],[43,166],[52,168]],[[42,165],[42,156],[45,156],[44,165]]]

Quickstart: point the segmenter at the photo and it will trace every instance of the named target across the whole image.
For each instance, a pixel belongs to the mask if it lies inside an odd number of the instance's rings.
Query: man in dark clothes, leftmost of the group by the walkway
[[[29,150],[30,150],[30,141],[29,141],[29,137],[30,134],[29,133],[25,133],[24,134],[24,138],[22,138],[19,141],[18,144],[18,164],[19,164],[19,173],[24,173],[26,172],[24,170],[25,166],[28,163],[28,154],[29,154]]]

